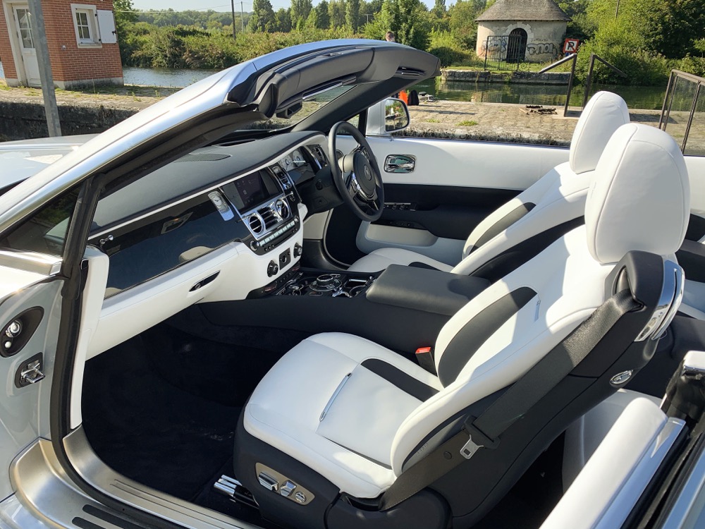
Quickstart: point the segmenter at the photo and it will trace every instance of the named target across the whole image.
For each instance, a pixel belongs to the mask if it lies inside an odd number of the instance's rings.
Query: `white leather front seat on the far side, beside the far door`
[[[443,272],[472,274],[517,244],[582,217],[597,162],[608,139],[625,123],[629,123],[629,111],[624,99],[611,92],[597,92],[577,122],[568,162],[548,171],[478,224],[455,267],[410,250],[379,248],[357,260],[349,270],[379,272],[388,265],[420,262]]]

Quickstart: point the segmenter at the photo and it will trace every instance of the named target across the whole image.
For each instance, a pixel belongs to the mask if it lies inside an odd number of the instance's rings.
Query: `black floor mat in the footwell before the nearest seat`
[[[137,336],[86,363],[83,426],[108,466],[191,500],[232,457],[241,408],[169,384],[146,348]]]

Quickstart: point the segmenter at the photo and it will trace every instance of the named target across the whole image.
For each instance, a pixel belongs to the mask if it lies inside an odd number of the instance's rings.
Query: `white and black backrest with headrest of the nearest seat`
[[[675,259],[689,210],[687,170],[675,141],[656,128],[620,127],[596,168],[585,225],[491,285],[441,329],[435,360],[444,389],[400,426],[391,451],[395,473],[439,425],[513,384],[586,322],[613,295],[611,273],[625,254]],[[663,259],[656,261],[661,284]],[[644,277],[627,278],[632,287],[637,281]],[[647,310],[642,328],[656,307],[640,312]],[[636,338],[640,330],[629,332]]]

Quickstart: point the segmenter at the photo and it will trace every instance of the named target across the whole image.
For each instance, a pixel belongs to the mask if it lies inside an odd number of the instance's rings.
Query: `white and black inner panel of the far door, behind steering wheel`
[[[384,136],[367,140],[381,167],[390,156],[414,157],[415,166],[410,173],[382,169],[384,214],[374,224],[360,225],[357,248],[363,253],[405,248],[450,265],[460,260],[465,239],[479,222],[567,162],[569,154],[565,148],[541,145]],[[345,152],[354,147],[350,138],[339,138],[338,145]]]

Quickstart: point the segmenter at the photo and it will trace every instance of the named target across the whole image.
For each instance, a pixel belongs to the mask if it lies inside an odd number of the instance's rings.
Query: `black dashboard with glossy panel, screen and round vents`
[[[299,188],[327,166],[325,140],[289,133],[204,147],[103,197],[89,244],[109,257],[106,298],[233,243],[264,257],[274,279],[302,253]]]

